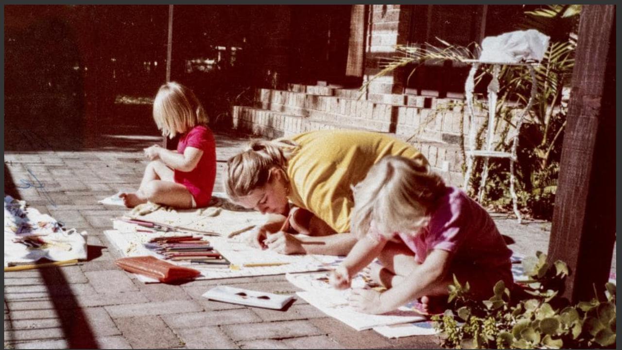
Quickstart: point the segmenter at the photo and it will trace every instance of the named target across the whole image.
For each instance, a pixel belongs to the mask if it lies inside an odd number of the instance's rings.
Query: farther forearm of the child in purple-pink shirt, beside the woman
[[[350,278],[378,257],[386,242],[386,240],[378,241],[365,235],[356,242],[345,260],[330,275],[330,284],[337,289],[348,288]]]

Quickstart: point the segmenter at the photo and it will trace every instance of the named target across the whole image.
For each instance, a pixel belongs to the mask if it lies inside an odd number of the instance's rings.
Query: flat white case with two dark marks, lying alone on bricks
[[[265,293],[231,286],[215,286],[203,293],[202,296],[210,300],[274,310],[281,310],[287,303],[294,299],[294,296],[291,295]]]

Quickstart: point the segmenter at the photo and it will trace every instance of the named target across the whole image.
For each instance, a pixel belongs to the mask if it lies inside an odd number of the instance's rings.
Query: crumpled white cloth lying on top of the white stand
[[[508,32],[485,37],[481,42],[481,62],[525,63],[540,62],[549,47],[548,35],[536,29]]]

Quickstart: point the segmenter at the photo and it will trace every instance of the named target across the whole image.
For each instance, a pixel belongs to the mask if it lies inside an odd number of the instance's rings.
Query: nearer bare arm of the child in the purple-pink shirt
[[[358,291],[357,297],[354,298],[355,308],[365,313],[380,314],[396,310],[399,306],[424,295],[446,293],[445,276],[450,262],[450,252],[434,249],[425,257],[424,263],[415,268],[399,285],[382,294],[374,290]]]

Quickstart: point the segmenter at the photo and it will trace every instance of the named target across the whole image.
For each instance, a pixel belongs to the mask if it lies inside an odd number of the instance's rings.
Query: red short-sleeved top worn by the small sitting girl
[[[216,141],[210,128],[198,125],[179,139],[177,152],[183,154],[186,147],[201,149],[203,155],[192,171],[175,169],[175,182],[186,186],[197,202],[197,207],[206,207],[216,181]]]

